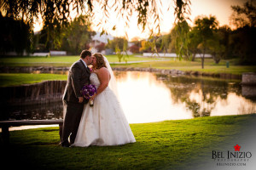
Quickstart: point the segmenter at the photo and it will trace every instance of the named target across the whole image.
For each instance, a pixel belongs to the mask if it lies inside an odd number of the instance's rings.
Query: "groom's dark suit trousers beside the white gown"
[[[84,104],[67,102],[66,106],[67,110],[62,129],[61,144],[68,144],[68,137],[70,138],[70,144],[73,144],[78,133]]]

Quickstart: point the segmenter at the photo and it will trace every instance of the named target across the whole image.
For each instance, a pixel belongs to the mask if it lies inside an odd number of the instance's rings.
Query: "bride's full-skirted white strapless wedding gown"
[[[90,83],[100,86],[96,73],[90,74]],[[94,105],[84,105],[79,130],[72,146],[119,145],[135,142],[119,100],[107,87],[94,99]]]

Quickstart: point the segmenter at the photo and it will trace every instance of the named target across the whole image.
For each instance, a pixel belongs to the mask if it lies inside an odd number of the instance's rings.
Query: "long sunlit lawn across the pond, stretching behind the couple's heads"
[[[201,59],[195,61],[185,61],[178,59],[170,59],[168,61],[160,61],[159,58],[141,58],[135,55],[125,57],[127,61],[152,60],[151,62],[118,64],[117,55],[106,55],[109,62],[115,62],[113,67],[141,67],[141,68],[157,68],[167,70],[180,71],[200,71],[207,73],[229,73],[241,75],[243,72],[256,72],[255,65],[236,65],[236,59],[230,59],[230,68],[226,68],[226,60],[222,59],[219,64],[215,64],[213,59],[205,59],[205,68],[201,69]],[[0,58],[0,66],[53,66],[53,67],[69,67],[79,56],[51,56],[47,57],[9,57]],[[124,60],[122,60],[124,61]]]

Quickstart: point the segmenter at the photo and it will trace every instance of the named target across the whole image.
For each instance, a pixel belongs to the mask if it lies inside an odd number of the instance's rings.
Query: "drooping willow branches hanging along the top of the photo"
[[[175,14],[176,21],[183,22],[188,20],[185,14],[189,14],[189,0],[173,0],[176,4]],[[137,12],[137,23],[139,26],[145,29],[148,19],[154,19],[154,28],[152,30],[158,30],[160,33],[160,20],[161,14],[161,1],[160,0],[116,0],[116,1],[98,1],[98,0],[4,0],[0,3],[0,9],[4,14],[15,20],[25,20],[30,26],[30,32],[32,34],[32,28],[34,20],[38,20],[41,16],[43,18],[44,27],[48,28],[47,34],[54,36],[54,45],[58,46],[61,41],[61,30],[68,25],[68,21],[71,20],[71,12],[76,11],[77,14],[85,12],[92,17],[99,13],[97,8],[102,9],[102,20],[99,21],[99,26],[102,26],[102,32],[106,31],[104,25],[108,23],[108,16],[110,9],[121,16],[125,20],[125,26],[129,26],[131,15]],[[171,6],[171,3],[170,3]],[[119,17],[117,17],[119,18]],[[116,26],[113,26],[113,30]],[[54,32],[54,34],[53,34]],[[179,32],[180,36],[183,36],[183,32]],[[127,35],[125,36],[128,38]],[[32,40],[32,38],[31,38]],[[48,41],[49,38],[48,38]]]

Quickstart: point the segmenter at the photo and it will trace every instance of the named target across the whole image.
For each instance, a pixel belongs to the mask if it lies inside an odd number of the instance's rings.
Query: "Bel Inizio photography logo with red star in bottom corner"
[[[234,149],[235,150],[226,151],[212,150],[212,160],[216,162],[216,166],[247,166],[247,162],[250,161],[250,158],[253,156],[252,153],[247,150],[242,150],[242,147],[239,144],[236,144]]]

